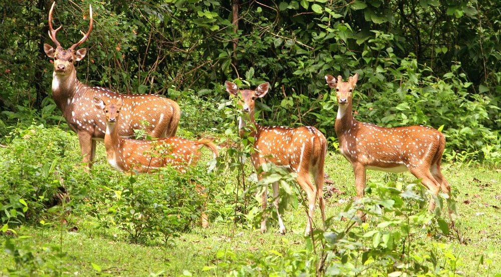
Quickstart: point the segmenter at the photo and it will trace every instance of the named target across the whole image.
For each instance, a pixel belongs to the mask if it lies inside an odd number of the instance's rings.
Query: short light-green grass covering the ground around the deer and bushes
[[[102,144],[100,144],[102,145]],[[101,146],[99,146],[101,147]],[[99,149],[99,163],[105,164],[103,149]],[[81,168],[76,168],[81,170]],[[481,166],[466,167],[461,164],[443,162],[444,176],[452,186],[452,193],[458,204],[460,217],[456,220],[456,229],[447,238],[447,247],[457,258],[458,275],[494,276],[501,272],[501,173],[493,168]],[[353,172],[348,162],[335,152],[329,152],[326,161],[326,173],[336,188],[345,192],[334,194],[327,199],[328,216],[340,212],[355,194]],[[369,181],[402,180],[412,181],[409,173],[389,174],[368,171]],[[217,203],[212,203],[217,205]],[[317,209],[318,211],[318,209]],[[319,226],[317,212],[316,226]],[[275,233],[277,226],[271,226],[268,233],[262,234],[256,227],[235,224],[232,220],[215,218],[207,229],[199,226],[180,233],[169,243],[145,245],[133,244],[123,239],[120,230],[100,228],[97,219],[88,214],[72,213],[68,215],[71,226],[53,224],[49,226],[25,226],[17,229],[27,237],[18,240],[20,254],[29,262],[50,262],[56,265],[56,271],[62,275],[88,276],[110,274],[117,276],[150,276],[165,274],[177,275],[224,275],[217,268],[222,263],[246,262],[247,255],[260,255],[277,251],[301,250],[305,248],[303,237],[306,214],[302,206],[287,210],[284,220],[288,233]],[[371,223],[369,217],[370,224]],[[334,228],[341,228],[343,222]],[[69,227],[76,231],[68,231]],[[0,236],[4,244],[8,236]],[[423,245],[437,242],[435,237],[414,237]],[[58,247],[61,247],[60,249]],[[487,257],[489,247],[494,252],[492,264],[479,264],[481,256]],[[429,247],[423,247],[429,249]],[[423,254],[426,250],[423,250]],[[52,253],[52,254],[51,254]],[[61,253],[57,255],[57,253]],[[37,261],[37,257],[42,260]],[[52,261],[51,261],[52,259]],[[219,267],[215,267],[218,265]],[[14,268],[13,255],[0,253],[0,269]]]

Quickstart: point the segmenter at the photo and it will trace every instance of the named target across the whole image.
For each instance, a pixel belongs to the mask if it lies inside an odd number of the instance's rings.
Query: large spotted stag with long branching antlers
[[[96,154],[96,139],[103,139],[106,129],[104,118],[94,106],[94,95],[106,101],[123,98],[123,120],[118,127],[121,136],[132,137],[134,129],[139,128],[144,128],[152,137],[174,136],[181,115],[179,105],[175,101],[151,94],[124,95],[103,87],[91,87],[78,80],[75,63],[84,58],[87,49],[75,48],[87,40],[92,30],[92,6],[89,5],[89,30],[83,34],[82,39],[65,50],[56,39],[56,34],[62,26],[57,29],[52,26],[55,4],[56,2],[52,3],[49,11],[49,36],[56,44],[56,49],[44,44],[45,53],[54,58],[52,96],[68,125],[78,134],[83,162],[91,166]],[[148,121],[149,125],[144,125],[141,122],[143,120]]]

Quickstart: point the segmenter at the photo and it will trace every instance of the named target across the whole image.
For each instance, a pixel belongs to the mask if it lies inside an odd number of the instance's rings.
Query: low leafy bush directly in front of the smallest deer
[[[165,167],[149,175],[115,175],[111,181],[106,173],[93,180],[90,197],[95,209],[91,213],[101,226],[123,230],[134,243],[165,244],[200,224],[201,211],[215,187],[214,174],[204,166],[185,174]]]

